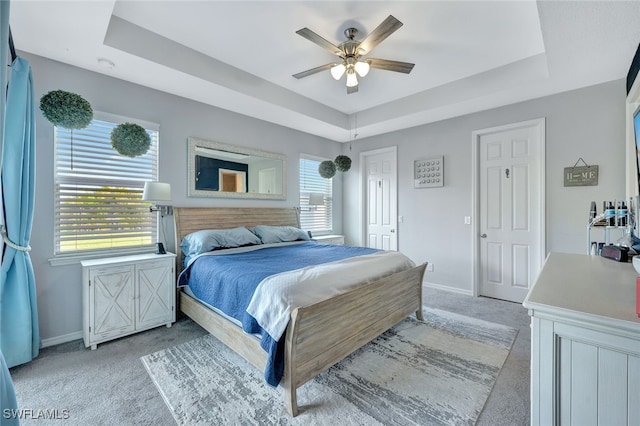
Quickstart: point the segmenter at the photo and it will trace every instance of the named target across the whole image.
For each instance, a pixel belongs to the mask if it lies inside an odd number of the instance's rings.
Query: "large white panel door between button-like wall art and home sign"
[[[521,303],[544,244],[544,121],[474,133],[479,188],[479,294]]]

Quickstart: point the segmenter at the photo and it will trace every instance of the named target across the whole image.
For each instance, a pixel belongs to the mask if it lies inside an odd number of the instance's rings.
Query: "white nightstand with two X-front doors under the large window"
[[[82,261],[85,346],[175,321],[173,253]]]

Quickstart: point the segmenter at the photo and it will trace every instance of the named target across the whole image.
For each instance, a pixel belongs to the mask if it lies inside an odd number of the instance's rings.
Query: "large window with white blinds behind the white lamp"
[[[111,130],[142,125],[149,151],[135,158],[111,146]],[[159,126],[96,113],[81,130],[55,127],[55,255],[152,247],[157,219],[142,201],[145,181],[158,176]]]

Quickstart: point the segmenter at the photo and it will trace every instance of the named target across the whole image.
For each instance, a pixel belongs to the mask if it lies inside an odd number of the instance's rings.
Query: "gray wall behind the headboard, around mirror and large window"
[[[50,90],[67,90],[87,99],[96,111],[160,124],[159,180],[171,184],[174,206],[289,207],[298,205],[301,153],[335,158],[341,144],[167,93],[22,54],[31,62],[35,100]],[[179,81],[175,82],[180,84]],[[53,126],[37,111],[36,211],[31,238],[40,333],[45,343],[78,338],[82,330],[79,263],[51,266],[53,256]],[[197,136],[285,154],[287,199],[234,200],[187,197],[187,138]],[[334,179],[335,231],[342,230],[342,183]]]

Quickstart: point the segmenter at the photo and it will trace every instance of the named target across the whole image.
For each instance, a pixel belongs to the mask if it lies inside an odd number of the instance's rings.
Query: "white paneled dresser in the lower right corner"
[[[531,424],[640,425],[636,271],[551,253],[523,305],[531,315]]]

